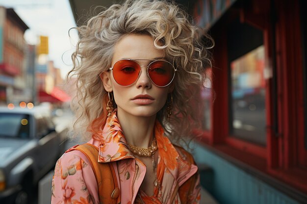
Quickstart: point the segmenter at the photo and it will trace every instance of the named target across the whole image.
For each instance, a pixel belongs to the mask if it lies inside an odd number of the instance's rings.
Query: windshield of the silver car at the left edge
[[[29,137],[29,115],[0,113],[0,137]]]

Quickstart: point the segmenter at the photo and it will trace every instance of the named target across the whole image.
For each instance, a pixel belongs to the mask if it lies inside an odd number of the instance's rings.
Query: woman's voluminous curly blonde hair
[[[213,41],[204,29],[189,22],[188,15],[178,5],[163,0],[127,0],[122,5],[103,8],[86,25],[76,29],[79,41],[67,79],[77,76],[72,109],[78,134],[88,138],[99,137],[102,132],[108,96],[99,75],[108,70],[115,44],[127,34],[153,37],[154,46],[163,50],[167,60],[178,69],[173,81],[173,114],[167,119],[167,105],[157,113],[166,134],[178,141],[199,125],[197,109],[202,103],[193,96],[201,91],[205,68],[211,66],[208,48]]]

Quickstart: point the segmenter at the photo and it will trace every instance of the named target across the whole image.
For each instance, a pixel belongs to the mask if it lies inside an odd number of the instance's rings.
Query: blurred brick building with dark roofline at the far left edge
[[[25,40],[28,26],[12,8],[0,7],[0,103],[30,101],[24,91]]]

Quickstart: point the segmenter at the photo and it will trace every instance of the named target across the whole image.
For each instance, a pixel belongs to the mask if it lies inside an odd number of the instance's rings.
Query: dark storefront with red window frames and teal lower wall
[[[177,2],[215,41],[195,131],[207,190],[221,204],[307,203],[307,1]],[[70,3],[80,25],[112,1]]]

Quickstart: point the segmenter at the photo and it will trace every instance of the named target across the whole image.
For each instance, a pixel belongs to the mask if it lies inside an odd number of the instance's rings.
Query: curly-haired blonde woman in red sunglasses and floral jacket
[[[195,122],[191,96],[210,66],[205,33],[178,6],[158,0],[112,5],[77,30],[69,73],[77,75],[75,131],[99,148],[98,162],[111,163],[121,203],[180,204],[179,186],[191,178],[184,202],[199,203],[197,166],[169,138],[190,134]],[[51,203],[99,203],[80,151],[57,161]]]

